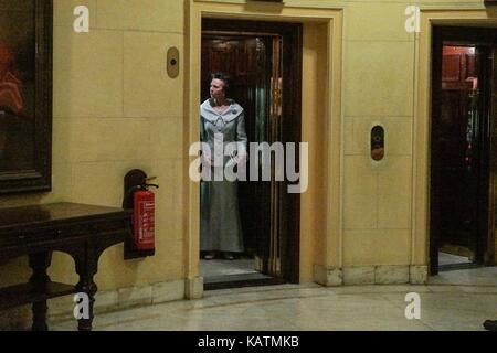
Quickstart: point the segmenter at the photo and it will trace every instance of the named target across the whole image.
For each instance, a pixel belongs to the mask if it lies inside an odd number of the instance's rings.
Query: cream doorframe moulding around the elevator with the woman
[[[184,53],[184,111],[183,151],[188,152],[192,142],[199,139],[199,101],[200,101],[200,41],[202,18],[221,18],[233,20],[267,20],[274,22],[300,22],[325,24],[328,38],[326,101],[324,111],[327,117],[328,141],[326,143],[326,170],[328,179],[326,244],[318,266],[342,266],[342,9],[298,7],[282,3],[246,3],[233,1],[187,0],[186,4],[186,53]],[[304,101],[303,101],[304,103]],[[303,113],[305,107],[303,106]],[[303,121],[305,116],[303,114]],[[194,158],[183,159],[183,172],[188,175],[190,162]],[[183,179],[183,224],[184,224],[184,276],[187,277],[187,297],[202,296],[202,278],[199,260],[200,228],[200,185],[189,178]],[[300,232],[300,237],[303,233]],[[300,261],[302,264],[302,261]],[[303,266],[300,266],[302,272]]]

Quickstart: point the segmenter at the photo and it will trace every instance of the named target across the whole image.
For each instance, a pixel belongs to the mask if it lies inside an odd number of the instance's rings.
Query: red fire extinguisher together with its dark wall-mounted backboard
[[[124,178],[123,208],[133,210],[131,232],[125,239],[125,260],[154,256],[156,253],[154,244],[155,199],[149,188],[158,188],[158,185],[148,184],[148,180],[151,178],[148,178],[140,169],[130,170]],[[144,240],[138,242],[138,235],[142,234],[145,234]]]

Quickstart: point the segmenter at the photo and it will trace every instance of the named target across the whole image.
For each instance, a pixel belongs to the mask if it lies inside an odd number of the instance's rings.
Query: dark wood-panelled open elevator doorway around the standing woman
[[[248,142],[300,141],[300,24],[203,19],[201,101],[216,72],[231,77]],[[296,160],[298,170],[298,154]],[[233,260],[201,258],[204,289],[298,282],[299,195],[274,178],[237,185],[245,249]]]

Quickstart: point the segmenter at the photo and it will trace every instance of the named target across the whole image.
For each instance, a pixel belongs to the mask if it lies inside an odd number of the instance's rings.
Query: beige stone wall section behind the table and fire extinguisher
[[[89,33],[73,31],[73,10],[89,9]],[[2,197],[1,206],[72,201],[120,206],[134,168],[157,175],[157,255],[123,260],[123,246],[101,258],[102,290],[183,278],[183,77],[169,78],[166,53],[183,53],[183,1],[54,0],[53,191]],[[25,280],[25,259],[0,267],[0,282]],[[75,282],[68,256],[50,275]]]

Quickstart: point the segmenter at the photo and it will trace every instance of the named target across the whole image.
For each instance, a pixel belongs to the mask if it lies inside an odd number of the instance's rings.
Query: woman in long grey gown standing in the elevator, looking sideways
[[[243,234],[240,221],[237,184],[224,175],[226,163],[241,163],[246,158],[247,137],[243,108],[226,97],[230,79],[218,73],[212,75],[211,98],[201,107],[201,141],[204,163],[211,169],[211,178],[201,183],[201,240],[203,258],[212,259],[221,254],[233,259],[243,253]],[[224,156],[228,143],[236,142],[237,153]],[[221,178],[220,178],[221,176]]]

